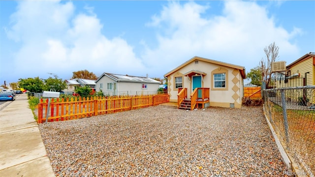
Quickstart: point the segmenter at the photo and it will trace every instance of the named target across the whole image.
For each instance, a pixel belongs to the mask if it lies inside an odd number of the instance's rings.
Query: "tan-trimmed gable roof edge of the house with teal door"
[[[200,60],[200,61],[205,61],[205,62],[209,62],[209,63],[213,63],[213,64],[219,64],[219,65],[222,65],[222,66],[226,66],[226,67],[230,67],[230,68],[235,68],[235,69],[239,69],[240,70],[240,73],[241,73],[241,76],[243,79],[246,78],[246,73],[245,73],[245,67],[243,66],[239,66],[239,65],[235,65],[235,64],[230,64],[230,63],[226,63],[226,62],[221,62],[221,61],[217,61],[217,60],[213,60],[213,59],[205,59],[205,58],[201,58],[201,57],[193,57],[191,59],[189,59],[188,61],[186,61],[185,63],[179,65],[178,67],[176,67],[175,69],[171,70],[170,72],[164,74],[164,77],[167,77],[168,75],[176,72],[177,70],[179,70],[180,68],[188,65],[189,63],[195,61],[195,60]],[[201,72],[201,71],[199,71]],[[200,73],[199,73],[200,74]]]

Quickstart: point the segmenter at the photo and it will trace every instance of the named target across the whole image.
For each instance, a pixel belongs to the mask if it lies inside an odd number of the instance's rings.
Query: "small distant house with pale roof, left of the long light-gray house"
[[[95,90],[95,80],[76,78],[71,80],[64,80],[64,82],[66,83],[67,88],[63,91],[68,94],[73,93],[77,87],[90,86],[91,89]]]

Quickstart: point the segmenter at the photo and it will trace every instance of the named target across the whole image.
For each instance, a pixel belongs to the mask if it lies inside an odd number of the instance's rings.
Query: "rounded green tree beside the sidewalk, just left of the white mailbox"
[[[19,79],[18,85],[20,88],[26,89],[30,92],[41,93],[44,89],[43,79],[39,77],[28,78],[28,79]]]

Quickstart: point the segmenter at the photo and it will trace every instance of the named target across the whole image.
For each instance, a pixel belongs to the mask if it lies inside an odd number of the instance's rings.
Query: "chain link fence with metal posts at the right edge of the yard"
[[[265,115],[305,176],[315,175],[315,86],[263,90]]]

